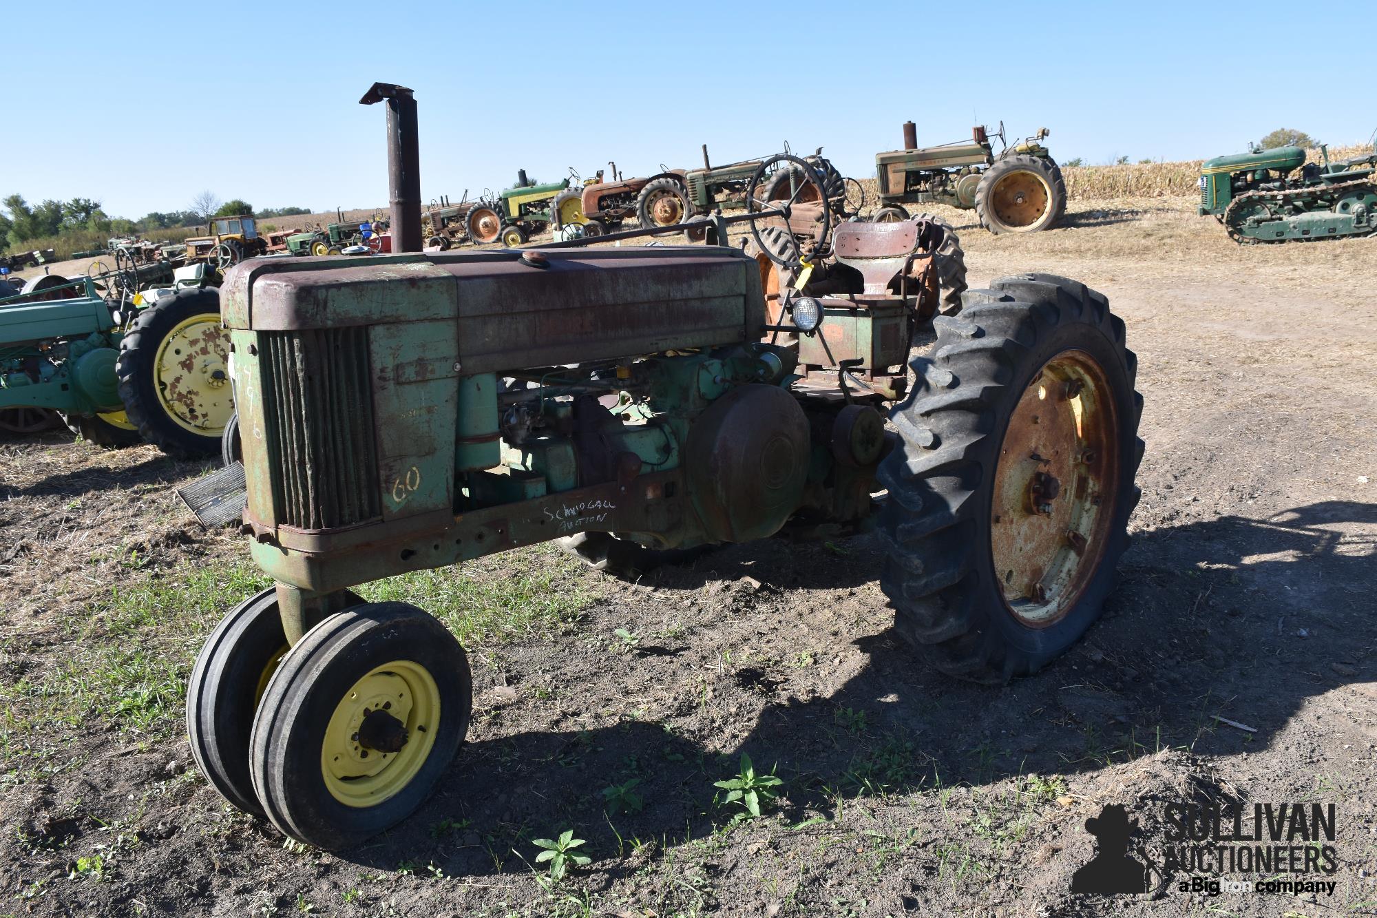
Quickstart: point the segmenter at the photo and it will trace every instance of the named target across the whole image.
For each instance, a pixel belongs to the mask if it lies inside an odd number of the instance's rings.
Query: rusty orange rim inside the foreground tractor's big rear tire
[[[990,553],[1004,605],[1026,627],[1066,618],[1100,567],[1118,493],[1118,425],[1108,378],[1084,350],[1047,361],[1009,416]]]

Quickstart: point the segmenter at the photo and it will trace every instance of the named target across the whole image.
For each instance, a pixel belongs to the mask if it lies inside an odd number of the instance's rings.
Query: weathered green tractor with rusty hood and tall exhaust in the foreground
[[[377,98],[414,124],[409,91]],[[552,539],[616,571],[873,529],[916,664],[1000,682],[1052,660],[1128,543],[1136,361],[1102,295],[1047,274],[968,291],[912,353],[923,244],[917,222],[844,225],[863,291],[770,305],[757,262],[715,245],[231,269],[241,531],[275,583],[193,669],[208,780],[322,848],[405,819],[464,740],[468,660],[353,589]]]

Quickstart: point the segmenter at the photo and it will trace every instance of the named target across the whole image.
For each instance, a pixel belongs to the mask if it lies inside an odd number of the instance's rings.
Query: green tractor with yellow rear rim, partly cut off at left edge
[[[0,298],[0,415],[58,412],[102,447],[219,452],[234,411],[219,291],[135,292],[127,272],[52,281]]]

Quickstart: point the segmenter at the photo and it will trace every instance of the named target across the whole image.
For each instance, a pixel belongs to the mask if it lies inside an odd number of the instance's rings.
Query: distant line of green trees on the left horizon
[[[201,192],[185,211],[150,211],[142,219],[131,221],[110,216],[102,210],[101,201],[90,197],[73,197],[69,201],[45,200],[29,204],[22,194],[11,194],[0,205],[0,252],[22,251],[32,240],[52,240],[78,233],[107,233],[110,236],[134,236],[157,233],[158,230],[183,226],[200,226],[215,216],[253,214],[255,216],[293,216],[311,214],[304,207],[277,207],[255,211],[248,201],[234,198],[222,203],[213,193]]]

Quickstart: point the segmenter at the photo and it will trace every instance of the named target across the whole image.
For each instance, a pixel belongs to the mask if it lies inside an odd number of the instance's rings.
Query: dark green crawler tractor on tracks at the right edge
[[[1371,153],[1307,163],[1299,146],[1253,147],[1201,167],[1201,204],[1239,244],[1311,241],[1377,233],[1377,146]]]

